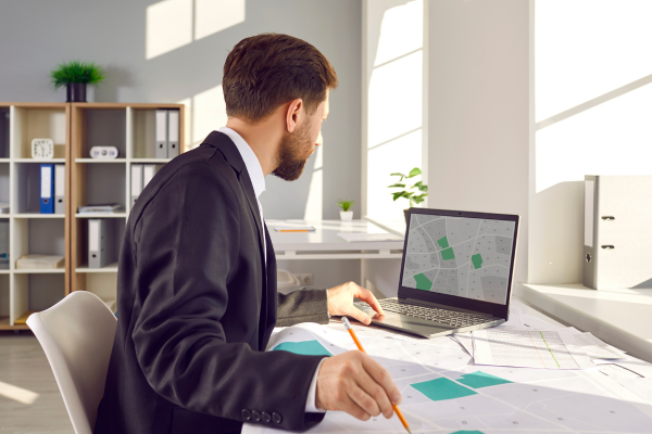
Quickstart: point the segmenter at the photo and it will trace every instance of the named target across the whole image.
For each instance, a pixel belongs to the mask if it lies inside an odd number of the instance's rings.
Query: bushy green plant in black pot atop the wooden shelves
[[[104,71],[95,62],[71,61],[50,73],[54,89],[66,87],[66,102],[86,102],[86,86],[104,79]]]

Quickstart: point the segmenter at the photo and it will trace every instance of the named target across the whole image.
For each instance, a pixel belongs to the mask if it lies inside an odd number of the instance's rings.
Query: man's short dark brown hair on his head
[[[333,65],[319,50],[279,34],[238,42],[226,58],[222,78],[226,114],[252,123],[299,98],[312,114],[337,84]]]

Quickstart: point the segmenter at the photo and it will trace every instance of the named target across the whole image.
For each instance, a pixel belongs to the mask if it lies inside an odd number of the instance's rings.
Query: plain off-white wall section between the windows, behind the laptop
[[[521,215],[527,279],[530,2],[429,2],[429,207]]]

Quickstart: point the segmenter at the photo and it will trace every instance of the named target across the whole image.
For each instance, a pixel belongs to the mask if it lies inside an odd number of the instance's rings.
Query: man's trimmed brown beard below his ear
[[[286,181],[299,179],[314,148],[310,145],[310,129],[311,124],[305,119],[301,129],[284,136],[278,146],[278,165],[274,175]]]

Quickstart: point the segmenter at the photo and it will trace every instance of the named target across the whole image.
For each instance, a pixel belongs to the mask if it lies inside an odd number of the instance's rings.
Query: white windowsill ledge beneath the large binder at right
[[[579,283],[515,285],[543,312],[652,362],[652,290],[591,290]]]

